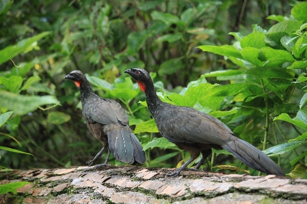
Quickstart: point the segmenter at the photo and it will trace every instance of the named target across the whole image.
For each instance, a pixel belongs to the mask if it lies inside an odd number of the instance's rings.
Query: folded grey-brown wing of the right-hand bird
[[[166,108],[155,118],[161,134],[173,143],[224,145],[233,135],[222,121],[193,108]]]

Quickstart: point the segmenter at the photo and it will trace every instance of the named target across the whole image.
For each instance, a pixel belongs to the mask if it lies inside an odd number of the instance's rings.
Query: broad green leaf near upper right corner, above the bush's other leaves
[[[276,25],[273,25],[269,29],[269,31],[267,31],[267,33],[284,32],[284,33],[292,34],[299,29],[302,23],[303,23],[302,21],[285,20]]]

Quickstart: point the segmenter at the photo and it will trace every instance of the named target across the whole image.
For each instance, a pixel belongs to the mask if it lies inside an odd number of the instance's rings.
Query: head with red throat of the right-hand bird
[[[139,88],[142,91],[146,91],[146,85],[150,83],[151,78],[148,72],[144,69],[132,68],[131,70],[126,70],[124,73],[130,74],[139,85]]]

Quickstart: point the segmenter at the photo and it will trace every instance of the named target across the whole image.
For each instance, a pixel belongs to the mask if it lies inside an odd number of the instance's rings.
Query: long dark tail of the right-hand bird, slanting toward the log
[[[231,143],[222,145],[222,147],[253,169],[267,173],[267,175],[285,176],[280,166],[273,162],[263,151],[246,141],[235,139]]]

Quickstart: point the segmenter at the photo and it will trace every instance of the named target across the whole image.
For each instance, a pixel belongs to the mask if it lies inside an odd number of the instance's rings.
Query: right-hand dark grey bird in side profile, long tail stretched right
[[[145,92],[148,109],[159,132],[165,139],[191,154],[191,158],[170,176],[178,175],[202,153],[202,159],[195,168],[199,169],[211,154],[211,148],[226,149],[244,164],[268,175],[285,176],[284,171],[271,158],[250,143],[237,138],[219,119],[193,108],[162,102],[146,70],[133,68],[124,72],[135,78]]]

